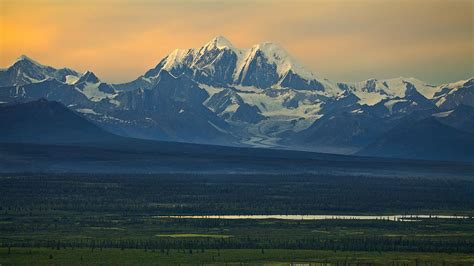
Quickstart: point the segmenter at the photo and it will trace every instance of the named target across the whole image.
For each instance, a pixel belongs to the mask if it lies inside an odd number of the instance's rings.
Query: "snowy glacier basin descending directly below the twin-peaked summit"
[[[203,104],[232,126],[232,134],[258,147],[278,146],[281,134],[309,127],[323,116],[329,99],[311,90],[200,87],[209,95]]]

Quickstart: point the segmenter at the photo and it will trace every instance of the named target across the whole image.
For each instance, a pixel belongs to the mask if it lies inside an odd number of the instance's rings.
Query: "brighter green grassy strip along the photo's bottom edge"
[[[0,249],[2,265],[472,265],[469,254],[408,252],[333,252],[279,249],[120,250],[120,249]]]

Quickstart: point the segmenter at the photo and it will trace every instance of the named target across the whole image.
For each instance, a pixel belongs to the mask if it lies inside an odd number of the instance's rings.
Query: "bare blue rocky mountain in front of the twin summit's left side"
[[[159,132],[166,140],[231,143],[228,124],[203,105],[207,98],[207,92],[189,77],[175,77],[163,70],[153,88],[118,95],[115,99],[120,102],[121,109],[111,111],[109,115],[124,121],[139,115],[147,120],[145,123],[152,129],[151,134]]]

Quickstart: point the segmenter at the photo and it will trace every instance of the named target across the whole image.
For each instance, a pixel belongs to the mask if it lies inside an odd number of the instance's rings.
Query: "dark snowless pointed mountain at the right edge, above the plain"
[[[435,118],[400,124],[357,154],[376,157],[474,160],[474,134]]]

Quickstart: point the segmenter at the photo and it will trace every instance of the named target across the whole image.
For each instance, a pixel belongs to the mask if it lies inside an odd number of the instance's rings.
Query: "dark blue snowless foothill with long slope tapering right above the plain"
[[[59,102],[44,99],[0,106],[0,127],[0,173],[378,173],[465,178],[472,176],[474,168],[472,162],[385,159],[127,138],[104,131]],[[466,158],[472,156],[461,159]]]

